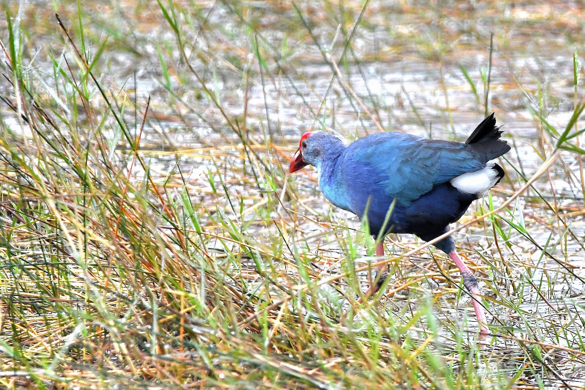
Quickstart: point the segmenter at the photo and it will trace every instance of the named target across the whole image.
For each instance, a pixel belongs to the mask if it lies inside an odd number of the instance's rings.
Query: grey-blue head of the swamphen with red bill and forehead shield
[[[345,149],[343,142],[332,134],[325,132],[302,134],[297,153],[292,158],[288,171],[296,172],[309,164],[319,168],[332,152],[339,155],[343,149]]]

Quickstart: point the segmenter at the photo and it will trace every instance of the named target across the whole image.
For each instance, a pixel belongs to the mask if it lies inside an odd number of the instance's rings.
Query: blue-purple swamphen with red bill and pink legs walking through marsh
[[[319,172],[321,191],[334,205],[360,219],[374,238],[387,233],[415,234],[425,241],[448,231],[471,202],[504,177],[500,165],[489,163],[510,146],[500,139],[492,113],[465,143],[429,140],[405,133],[370,134],[345,146],[325,132],[303,134],[289,171],[311,164]],[[447,237],[435,246],[449,254],[472,296],[481,333],[489,333],[479,300],[479,285]],[[383,243],[376,255],[384,255]],[[387,276],[382,265],[365,295],[373,295]]]

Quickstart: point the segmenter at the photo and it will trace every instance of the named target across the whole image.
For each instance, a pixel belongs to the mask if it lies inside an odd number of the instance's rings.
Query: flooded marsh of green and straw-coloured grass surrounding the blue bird
[[[486,4],[4,4],[2,386],[582,387],[583,7]],[[513,149],[453,226],[480,348],[444,254],[374,257],[285,172],[307,127],[460,140],[484,111]]]

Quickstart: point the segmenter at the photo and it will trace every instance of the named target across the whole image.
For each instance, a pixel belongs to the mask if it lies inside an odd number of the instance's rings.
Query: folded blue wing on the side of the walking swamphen
[[[353,211],[408,207],[437,184],[466,172],[477,171],[486,161],[468,144],[428,140],[405,133],[371,134],[343,152],[340,169]]]

